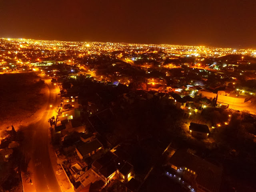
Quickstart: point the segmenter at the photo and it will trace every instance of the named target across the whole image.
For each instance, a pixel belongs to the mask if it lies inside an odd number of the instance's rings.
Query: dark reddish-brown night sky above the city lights
[[[0,37],[256,48],[256,0],[0,0]]]

